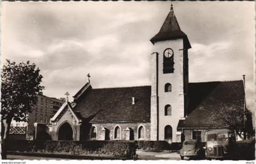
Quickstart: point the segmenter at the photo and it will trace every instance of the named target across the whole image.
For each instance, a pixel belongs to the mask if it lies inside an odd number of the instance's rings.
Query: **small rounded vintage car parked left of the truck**
[[[204,148],[198,140],[185,140],[180,149],[180,159],[184,157],[202,157],[205,154]]]

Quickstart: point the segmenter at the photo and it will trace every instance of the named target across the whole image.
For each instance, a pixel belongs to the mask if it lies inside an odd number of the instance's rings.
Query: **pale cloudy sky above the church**
[[[254,2],[174,1],[188,36],[190,82],[242,80],[254,101]],[[35,63],[44,95],[99,87],[151,85],[149,41],[171,2],[1,2],[2,55]]]

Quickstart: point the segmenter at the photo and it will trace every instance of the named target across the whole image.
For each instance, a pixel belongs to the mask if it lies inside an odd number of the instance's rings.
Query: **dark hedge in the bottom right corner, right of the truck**
[[[255,160],[255,138],[236,142],[235,160]]]

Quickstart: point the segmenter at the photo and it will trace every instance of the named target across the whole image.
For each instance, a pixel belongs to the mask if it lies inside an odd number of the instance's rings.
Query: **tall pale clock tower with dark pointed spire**
[[[185,117],[188,101],[187,35],[180,30],[174,10],[151,39],[151,140],[179,142],[179,120]]]

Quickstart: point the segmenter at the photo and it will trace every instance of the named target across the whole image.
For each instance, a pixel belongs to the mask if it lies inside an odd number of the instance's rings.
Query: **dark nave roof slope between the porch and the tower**
[[[90,122],[150,121],[151,86],[90,89],[79,99],[74,111]]]

